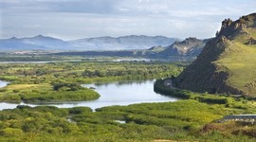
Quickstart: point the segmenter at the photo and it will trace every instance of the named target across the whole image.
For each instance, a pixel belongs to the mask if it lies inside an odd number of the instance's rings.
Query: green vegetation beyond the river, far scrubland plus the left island
[[[8,102],[78,101],[99,98],[80,84],[114,80],[148,80],[177,76],[182,66],[167,62],[49,62],[0,64],[0,100]]]

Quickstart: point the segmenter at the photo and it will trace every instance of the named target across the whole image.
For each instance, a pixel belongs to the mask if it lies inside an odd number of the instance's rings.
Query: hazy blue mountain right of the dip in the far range
[[[127,49],[147,49],[153,45],[169,45],[173,44],[177,39],[167,38],[163,36],[144,36],[130,35],[119,38],[100,37],[86,38],[71,41],[75,47],[84,47],[86,50],[127,50]]]

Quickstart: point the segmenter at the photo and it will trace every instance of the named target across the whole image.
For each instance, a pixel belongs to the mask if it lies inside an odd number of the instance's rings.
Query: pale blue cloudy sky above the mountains
[[[256,0],[0,0],[0,39],[64,40],[125,35],[213,37],[226,18],[255,11]]]

